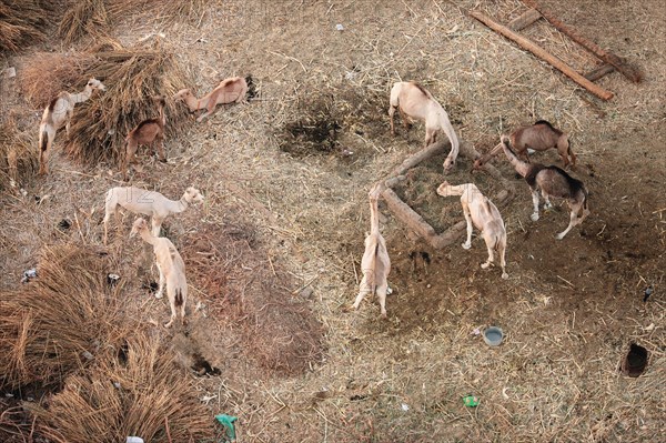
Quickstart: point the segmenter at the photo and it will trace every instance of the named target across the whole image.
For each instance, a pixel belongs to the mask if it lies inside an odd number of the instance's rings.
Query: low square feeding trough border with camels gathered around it
[[[448,152],[450,149],[451,143],[448,140],[441,141],[433,143],[408,157],[402,162],[401,165],[391,172],[391,175],[384,180],[385,189],[382,192],[382,197],[386,201],[391,212],[393,212],[393,214],[400,221],[407,225],[407,228],[410,228],[414,233],[423,238],[434,249],[443,249],[454,243],[456,239],[458,239],[465,231],[466,222],[462,220],[453,226],[446,229],[444,232],[437,233],[435,229],[423,219],[423,217],[414,211],[395,193],[393,188],[406,179],[405,174],[410,169],[418,165],[421,162],[431,159],[434,155]],[[470,159],[472,162],[481,157],[478,151],[476,151],[470,143],[462,140],[460,145],[460,154]],[[515,194],[514,185],[506,180],[492,164],[486,163],[484,170],[494,179],[497,179],[500,182],[502,182],[504,188],[496,195],[493,195],[493,201],[498,205],[507,203]]]

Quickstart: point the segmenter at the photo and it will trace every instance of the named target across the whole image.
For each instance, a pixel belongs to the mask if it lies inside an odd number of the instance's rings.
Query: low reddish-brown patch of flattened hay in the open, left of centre
[[[281,373],[302,372],[321,359],[323,331],[309,301],[293,293],[295,283],[262,252],[256,228],[241,214],[202,225],[181,244],[188,279],[233,325],[245,358]]]

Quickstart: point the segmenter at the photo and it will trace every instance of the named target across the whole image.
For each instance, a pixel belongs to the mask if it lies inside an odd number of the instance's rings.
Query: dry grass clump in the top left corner
[[[0,51],[17,52],[44,39],[48,18],[57,4],[41,0],[0,0]]]

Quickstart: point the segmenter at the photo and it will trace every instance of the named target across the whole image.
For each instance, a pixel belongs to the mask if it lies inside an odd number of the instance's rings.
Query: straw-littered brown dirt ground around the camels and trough
[[[203,207],[165,223],[185,264],[198,264],[186,334],[164,336],[183,364],[199,355],[219,371],[192,383],[211,417],[239,417],[239,441],[656,442],[666,434],[666,12],[660,0],[541,3],[639,66],[644,81],[605,77],[597,84],[615,97],[603,102],[466,14],[477,8],[506,23],[525,10],[517,0],[210,1],[194,20],[147,10],[112,29],[127,46],[163,32],[200,94],[230,75],[251,73],[256,84],[255,100],[221,107],[186,139],[168,140],[168,164],[144,154],[144,172],[133,179],[171,198],[188,185],[206,195]],[[523,34],[581,72],[601,64],[543,20]],[[3,67],[44,49],[68,48],[44,43]],[[539,119],[567,131],[578,157],[572,174],[586,183],[592,214],[555,240],[566,205],[532,222],[527,185],[498,157],[494,164],[516,187],[500,208],[508,233],[509,279],[502,280],[498,269],[480,266],[482,239],[468,251],[463,238],[433,250],[381,203],[394,290],[382,320],[375,299],[359,312],[349,306],[367,191],[423,144],[421,123],[389,132],[390,88],[412,79],[481,152]],[[24,107],[13,81],[2,79],[4,117]],[[14,112],[26,131],[41,115]],[[532,158],[559,164],[554,151]],[[435,193],[444,179],[497,189],[490,175],[470,174],[465,159],[443,177],[442,161],[414,169],[397,190],[438,231],[462,220],[458,200]],[[82,168],[61,153],[51,170],[23,183],[26,195],[0,194],[2,288],[19,284],[42,244],[101,243],[117,165]],[[62,219],[74,221],[64,233],[56,229]],[[142,288],[157,274],[135,264],[145,250],[127,239],[130,219],[110,249],[118,273],[132,280],[128,302],[162,321],[169,309]],[[198,243],[203,238],[216,242]],[[220,269],[218,283],[200,284]],[[644,302],[648,285],[654,294]],[[243,300],[245,288],[262,298]],[[264,320],[244,318],[236,299],[255,303]],[[500,348],[475,334],[488,325],[506,333]],[[637,379],[618,371],[630,342],[650,355]],[[256,355],[262,343],[280,352]],[[478,406],[463,404],[467,394]]]

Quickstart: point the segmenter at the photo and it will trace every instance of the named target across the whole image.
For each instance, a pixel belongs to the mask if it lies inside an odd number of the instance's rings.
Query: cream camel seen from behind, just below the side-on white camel
[[[164,328],[171,328],[176,318],[175,309],[180,306],[181,323],[185,324],[185,303],[188,302],[188,281],[185,279],[185,263],[178,253],[178,250],[171,243],[171,240],[164,236],[154,236],[148,229],[148,222],[143,218],[138,218],[132,224],[130,238],[135,234],[141,235],[144,242],[153,246],[155,263],[160,271],[160,288],[155,293],[157,299],[161,299],[167,284],[167,296],[171,305],[171,320],[164,324]]]

